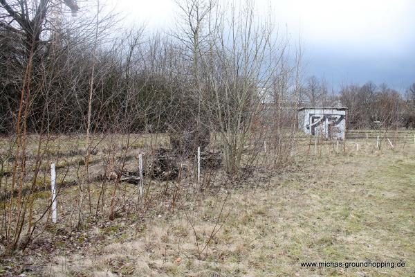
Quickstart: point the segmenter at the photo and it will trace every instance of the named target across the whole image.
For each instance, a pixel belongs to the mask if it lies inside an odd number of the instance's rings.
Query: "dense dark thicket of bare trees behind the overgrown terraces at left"
[[[183,49],[142,29],[111,34],[111,21],[100,19],[97,37],[93,19],[86,29],[75,21],[52,34],[45,30],[36,48],[25,47],[28,35],[19,26],[2,24],[0,132],[15,132],[22,90],[30,100],[28,132],[85,132],[88,124],[91,132],[155,131],[189,117],[195,103]]]

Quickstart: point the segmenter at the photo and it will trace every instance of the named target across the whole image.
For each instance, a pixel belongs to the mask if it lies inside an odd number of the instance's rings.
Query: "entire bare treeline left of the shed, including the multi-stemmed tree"
[[[197,144],[216,132],[234,172],[248,136],[268,132],[250,132],[266,113],[262,104],[296,110],[301,48],[290,49],[268,19],[255,17],[250,1],[228,8],[179,1],[177,28],[163,34],[119,28],[94,1],[80,8],[0,3],[0,132],[17,142],[28,133],[75,132],[89,141],[91,134],[167,132]],[[78,16],[67,17],[69,10]],[[287,120],[282,112],[267,119],[275,136]]]

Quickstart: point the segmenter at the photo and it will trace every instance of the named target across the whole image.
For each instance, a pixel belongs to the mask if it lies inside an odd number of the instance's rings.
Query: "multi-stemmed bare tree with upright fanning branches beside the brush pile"
[[[205,109],[221,137],[225,169],[231,175],[239,174],[243,150],[253,138],[252,122],[275,73],[275,52],[269,51],[275,46],[272,28],[255,23],[249,3],[237,8],[215,21],[212,51],[204,60],[211,99],[205,101]]]

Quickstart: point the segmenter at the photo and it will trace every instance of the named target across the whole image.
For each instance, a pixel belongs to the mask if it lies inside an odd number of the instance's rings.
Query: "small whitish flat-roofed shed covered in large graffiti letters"
[[[302,107],[298,109],[298,127],[306,134],[344,140],[347,107]]]

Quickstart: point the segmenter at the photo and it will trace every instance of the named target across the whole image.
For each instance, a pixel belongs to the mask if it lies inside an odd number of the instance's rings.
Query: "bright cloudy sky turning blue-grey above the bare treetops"
[[[225,1],[225,0],[223,0]],[[233,0],[239,1],[239,0]],[[243,0],[241,0],[243,1]],[[174,0],[107,0],[125,24],[174,26]],[[415,0],[256,0],[278,28],[301,37],[306,75],[329,88],[385,82],[405,91],[415,82]]]

